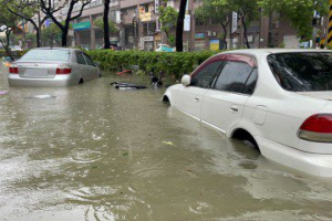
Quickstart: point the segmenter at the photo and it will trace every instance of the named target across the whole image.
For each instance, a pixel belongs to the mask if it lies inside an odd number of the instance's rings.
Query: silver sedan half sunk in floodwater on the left
[[[81,50],[39,48],[12,63],[8,82],[10,86],[69,86],[100,75],[97,64]]]

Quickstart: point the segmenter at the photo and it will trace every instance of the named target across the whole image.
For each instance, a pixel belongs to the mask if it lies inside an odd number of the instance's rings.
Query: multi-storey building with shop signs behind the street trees
[[[59,1],[60,6],[62,1]],[[118,29],[117,33],[110,36],[111,43],[122,49],[137,49],[153,51],[159,43],[166,42],[165,33],[160,32],[158,22],[158,6],[164,0],[111,0],[110,19]],[[199,0],[188,0],[186,8],[186,29],[184,32],[185,51],[218,50],[224,48],[220,41],[222,29],[214,21],[201,22],[195,17],[195,9],[199,7]],[[179,0],[168,0],[167,6],[179,8]],[[81,6],[76,4],[73,15],[80,12]],[[69,33],[69,45],[85,49],[101,49],[104,45],[103,30],[94,25],[94,21],[103,17],[103,0],[92,0],[83,10],[82,15],[75,19],[73,29]],[[68,8],[62,9],[56,14],[59,20],[64,20]],[[245,48],[243,31],[241,23],[235,25],[236,32],[232,34],[229,25],[227,29],[228,49]],[[175,30],[174,30],[175,32]],[[248,41],[250,48],[298,48],[299,38],[288,21],[277,13],[264,17],[261,14],[257,21],[251,21],[248,27]]]

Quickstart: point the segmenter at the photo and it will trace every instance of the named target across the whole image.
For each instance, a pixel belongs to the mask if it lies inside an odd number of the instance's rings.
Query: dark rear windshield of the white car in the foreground
[[[332,91],[332,53],[271,54],[268,62],[276,80],[287,91]]]

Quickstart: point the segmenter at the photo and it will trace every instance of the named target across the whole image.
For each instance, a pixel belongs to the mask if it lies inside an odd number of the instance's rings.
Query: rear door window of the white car
[[[253,67],[245,62],[227,62],[215,85],[216,90],[242,93]]]

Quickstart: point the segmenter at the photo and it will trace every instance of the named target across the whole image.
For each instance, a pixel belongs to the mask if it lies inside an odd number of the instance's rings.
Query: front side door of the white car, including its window
[[[222,64],[224,61],[212,57],[191,74],[189,86],[179,85],[176,87],[174,102],[177,108],[200,119],[203,96],[211,87]]]

